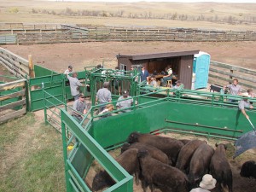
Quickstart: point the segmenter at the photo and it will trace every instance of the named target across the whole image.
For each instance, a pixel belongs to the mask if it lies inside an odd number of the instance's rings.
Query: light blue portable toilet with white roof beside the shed
[[[199,54],[194,55],[193,77],[195,79],[192,79],[192,87],[195,87],[195,90],[207,88],[210,61],[211,56],[206,52],[199,51]]]

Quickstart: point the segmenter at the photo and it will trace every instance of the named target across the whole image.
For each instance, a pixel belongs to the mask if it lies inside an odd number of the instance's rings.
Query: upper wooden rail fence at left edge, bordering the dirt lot
[[[16,77],[25,79],[29,76],[29,61],[7,49],[0,48],[0,64]]]

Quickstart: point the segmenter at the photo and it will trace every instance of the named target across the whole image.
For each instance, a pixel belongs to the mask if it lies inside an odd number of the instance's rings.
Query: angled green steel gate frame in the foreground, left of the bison
[[[61,110],[61,132],[63,140],[63,155],[65,162],[65,172],[66,172],[66,184],[67,191],[90,191],[88,186],[84,183],[82,177],[76,171],[73,166],[72,160],[68,158],[67,155],[67,129],[71,131],[76,137],[79,144],[86,148],[87,155],[90,153],[104,169],[109,173],[111,177],[117,182],[112,187],[106,191],[132,191],[133,179],[132,177],[124,170],[122,166],[113,160],[112,156],[108,154],[102,146],[100,146],[93,137],[87,131],[84,131],[83,127],[79,125],[78,122],[74,121],[73,118],[65,110]],[[89,155],[89,158],[91,158]],[[84,160],[85,161],[85,160]]]

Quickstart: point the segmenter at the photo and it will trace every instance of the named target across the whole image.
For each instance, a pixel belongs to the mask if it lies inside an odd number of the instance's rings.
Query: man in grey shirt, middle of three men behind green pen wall
[[[103,83],[103,88],[97,91],[96,94],[96,103],[104,104],[99,108],[99,112],[102,112],[108,102],[112,101],[111,92],[108,90],[109,82]]]

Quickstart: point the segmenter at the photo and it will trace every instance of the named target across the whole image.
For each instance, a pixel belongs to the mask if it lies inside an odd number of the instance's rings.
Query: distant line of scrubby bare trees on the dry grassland
[[[73,10],[66,8],[59,13],[54,10],[47,9],[32,9],[32,14],[48,14],[48,15],[68,15],[68,16],[102,16],[102,17],[124,17],[134,19],[166,19],[166,20],[200,20],[210,22],[225,22],[229,24],[241,24],[241,23],[256,23],[256,16],[243,15],[238,13],[237,16],[224,16],[212,15],[214,9],[210,10],[211,15],[184,15],[175,13],[167,14],[153,14],[151,11],[144,11],[143,13],[125,13],[125,10],[118,10],[116,12],[107,12],[104,10]]]

